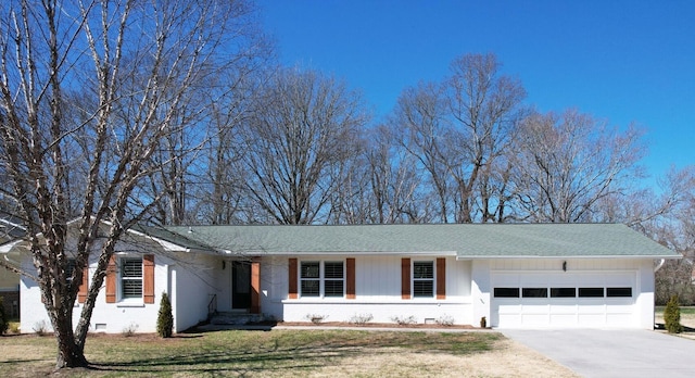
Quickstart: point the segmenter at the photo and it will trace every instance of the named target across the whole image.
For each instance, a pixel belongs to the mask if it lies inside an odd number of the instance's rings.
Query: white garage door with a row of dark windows
[[[633,327],[636,273],[493,273],[491,325]]]

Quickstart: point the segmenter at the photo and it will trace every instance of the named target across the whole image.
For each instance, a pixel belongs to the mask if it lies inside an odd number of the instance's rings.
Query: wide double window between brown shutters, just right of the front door
[[[338,262],[302,262],[300,266],[302,297],[343,297],[344,264]]]

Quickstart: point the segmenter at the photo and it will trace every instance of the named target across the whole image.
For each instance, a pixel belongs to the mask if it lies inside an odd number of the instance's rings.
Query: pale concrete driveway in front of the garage
[[[694,377],[695,340],[649,330],[517,330],[504,336],[583,377]]]

